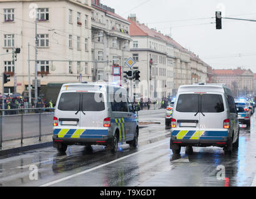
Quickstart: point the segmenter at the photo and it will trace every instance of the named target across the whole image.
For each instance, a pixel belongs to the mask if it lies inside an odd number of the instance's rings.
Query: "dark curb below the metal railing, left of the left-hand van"
[[[41,148],[50,147],[50,146],[52,146],[52,142],[33,144],[33,145],[29,145],[29,146],[24,146],[24,147],[17,147],[14,149],[3,149],[3,150],[0,150],[0,157],[3,155],[14,155],[14,154],[18,154],[20,152],[24,152],[27,150],[41,149]]]

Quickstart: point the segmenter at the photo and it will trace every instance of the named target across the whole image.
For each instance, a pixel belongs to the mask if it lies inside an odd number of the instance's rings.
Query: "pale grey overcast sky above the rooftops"
[[[172,27],[172,38],[213,68],[244,67],[256,73],[256,22],[222,19],[222,30],[209,24],[215,22],[210,17],[215,17],[217,7],[224,7],[226,17],[256,20],[255,0],[101,0],[101,3],[113,7],[126,19],[129,14],[136,14],[140,23],[163,34],[170,34]]]

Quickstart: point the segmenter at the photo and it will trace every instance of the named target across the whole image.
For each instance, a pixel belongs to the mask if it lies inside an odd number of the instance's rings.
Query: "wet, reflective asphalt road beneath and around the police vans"
[[[140,112],[140,121],[161,124],[141,128],[136,149],[123,144],[117,154],[111,154],[93,146],[88,153],[83,146],[69,146],[66,154],[58,154],[47,147],[1,157],[0,186],[256,186],[255,115],[251,129],[240,130],[239,150],[232,155],[224,155],[219,147],[194,147],[192,155],[182,148],[180,156],[174,157],[164,113]],[[31,173],[35,168],[37,176]],[[35,177],[38,179],[33,180]]]

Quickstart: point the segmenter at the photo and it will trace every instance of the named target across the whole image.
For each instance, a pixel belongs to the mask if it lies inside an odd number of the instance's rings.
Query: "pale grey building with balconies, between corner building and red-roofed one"
[[[120,65],[122,74],[130,57],[130,22],[100,0],[91,0],[92,7],[92,73],[94,81],[112,81],[112,66]]]

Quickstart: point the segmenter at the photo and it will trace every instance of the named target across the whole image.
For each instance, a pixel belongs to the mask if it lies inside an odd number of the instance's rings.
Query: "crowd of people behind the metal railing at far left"
[[[6,96],[4,101],[2,97],[0,98],[0,109],[2,109],[2,103],[4,103],[4,109],[6,109],[4,114],[19,114],[21,111],[15,109],[25,109],[24,113],[26,114],[28,111],[27,108],[54,108],[52,104],[52,100],[49,102],[44,98],[39,97],[37,99],[37,103],[35,103],[34,99],[31,99],[31,104],[29,104],[28,98],[24,98],[22,96],[17,96],[12,98],[12,96]],[[39,110],[35,110],[35,113],[39,113]]]

